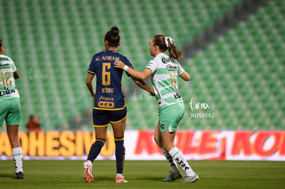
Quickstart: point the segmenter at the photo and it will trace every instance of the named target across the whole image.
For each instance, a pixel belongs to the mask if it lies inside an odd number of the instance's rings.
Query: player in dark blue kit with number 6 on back
[[[116,183],[126,183],[123,177],[125,162],[124,133],[127,118],[125,96],[122,91],[123,70],[114,67],[115,60],[121,60],[125,65],[132,67],[127,57],[118,52],[120,35],[118,27],[105,34],[105,50],[95,54],[89,64],[86,85],[94,100],[93,123],[96,140],[89,149],[87,161],[84,162],[84,176],[88,183],[93,182],[92,164],[101,152],[106,142],[107,126],[112,124],[116,144]],[[96,75],[96,93],[92,86],[92,80]],[[154,95],[151,89],[142,80],[134,79],[136,85]]]

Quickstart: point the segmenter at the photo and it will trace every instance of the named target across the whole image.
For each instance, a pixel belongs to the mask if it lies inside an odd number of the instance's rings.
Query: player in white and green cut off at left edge
[[[14,178],[23,179],[23,155],[18,136],[19,125],[22,124],[21,104],[15,85],[15,79],[19,78],[19,72],[13,60],[3,53],[4,45],[0,40],[0,126],[5,120],[16,167]]]

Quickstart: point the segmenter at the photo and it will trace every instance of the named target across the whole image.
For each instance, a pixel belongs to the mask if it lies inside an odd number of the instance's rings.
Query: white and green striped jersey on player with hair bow
[[[164,53],[158,54],[149,61],[146,68],[152,72],[151,82],[154,85],[158,107],[183,102],[178,91],[178,76],[184,69],[177,60],[169,58]]]

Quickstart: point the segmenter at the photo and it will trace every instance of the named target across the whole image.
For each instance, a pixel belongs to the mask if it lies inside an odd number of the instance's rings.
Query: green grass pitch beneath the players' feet
[[[284,188],[285,162],[193,161],[200,180],[162,182],[166,161],[126,161],[127,184],[116,184],[116,162],[95,161],[94,183],[85,183],[83,161],[27,160],[25,179],[16,180],[12,160],[0,161],[0,188]]]

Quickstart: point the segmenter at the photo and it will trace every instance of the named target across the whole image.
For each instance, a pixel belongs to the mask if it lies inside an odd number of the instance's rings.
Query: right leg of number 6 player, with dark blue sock
[[[125,145],[124,135],[126,127],[127,110],[114,111],[112,118],[112,128],[114,131],[114,140],[116,145],[116,183],[126,183],[127,181],[123,177],[123,168],[125,164]]]

